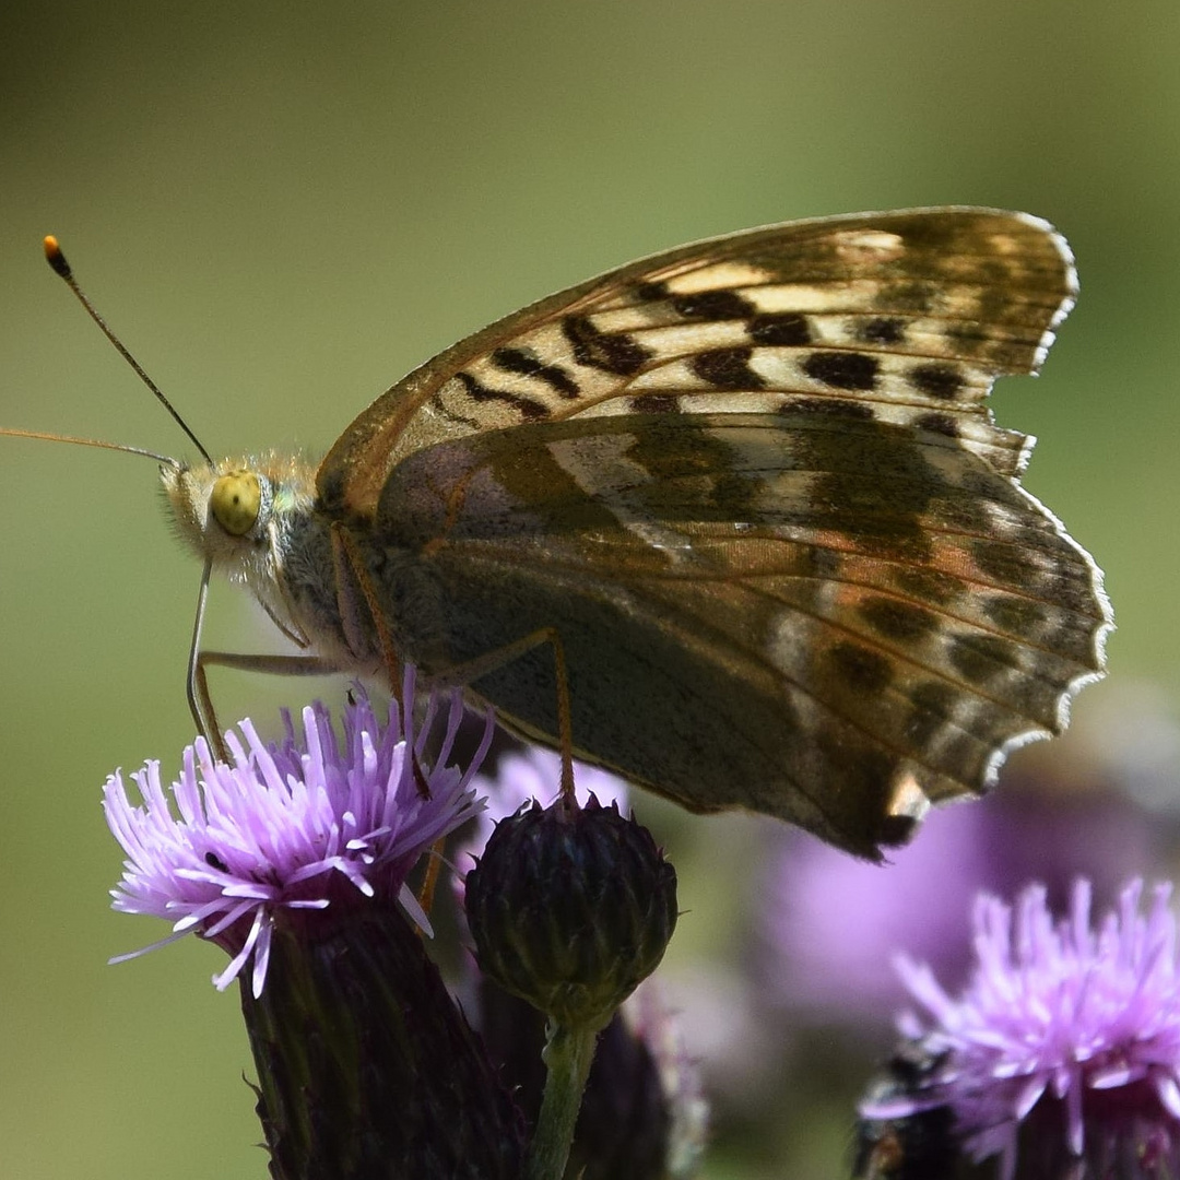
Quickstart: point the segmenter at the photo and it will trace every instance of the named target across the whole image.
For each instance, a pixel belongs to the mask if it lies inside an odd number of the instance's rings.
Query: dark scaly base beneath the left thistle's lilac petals
[[[519,1180],[519,1112],[400,911],[276,930],[242,1010],[274,1180]]]

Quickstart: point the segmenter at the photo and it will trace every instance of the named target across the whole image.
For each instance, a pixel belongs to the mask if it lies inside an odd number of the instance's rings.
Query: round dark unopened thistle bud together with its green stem
[[[550,1180],[566,1171],[598,1034],[671,938],[676,873],[617,804],[603,807],[590,795],[583,807],[570,789],[549,807],[533,799],[497,825],[467,873],[464,900],[485,979],[548,1017],[545,1090],[525,1175]],[[636,1048],[650,1069],[645,1048]],[[663,1120],[658,1080],[651,1082],[643,1089]],[[663,1163],[666,1126],[645,1129],[656,1134],[635,1175]],[[591,1158],[604,1146],[599,1140]],[[625,1158],[638,1146],[623,1135],[611,1153]]]

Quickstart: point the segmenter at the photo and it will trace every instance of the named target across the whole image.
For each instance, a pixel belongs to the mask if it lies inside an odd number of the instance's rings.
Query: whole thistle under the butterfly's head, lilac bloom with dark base
[[[276,745],[243,721],[230,765],[198,740],[171,792],[158,763],[136,774],[140,806],[106,785],[116,909],[232,956],[214,982],[241,985],[274,1180],[520,1176],[520,1113],[404,912],[428,927],[406,874],[479,806],[473,768],[446,766],[461,704],[428,759],[411,675],[404,702],[382,725],[361,695],[342,741],[322,704]]]

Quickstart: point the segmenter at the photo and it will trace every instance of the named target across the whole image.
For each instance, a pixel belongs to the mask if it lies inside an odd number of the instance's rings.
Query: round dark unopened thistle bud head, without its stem
[[[663,958],[676,872],[651,833],[591,796],[526,805],[467,874],[480,970],[564,1028],[603,1028]]]

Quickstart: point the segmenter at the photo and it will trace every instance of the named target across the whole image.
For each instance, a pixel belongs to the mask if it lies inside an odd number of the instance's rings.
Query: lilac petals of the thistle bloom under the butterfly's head
[[[111,775],[103,809],[127,854],[123,879],[111,891],[113,909],[173,923],[169,938],[111,962],[197,932],[232,956],[214,984],[228,988],[253,959],[257,997],[278,920],[295,922],[301,913],[307,920],[309,911],[367,898],[396,899],[430,931],[406,877],[435,840],[479,811],[472,776],[492,721],[466,771],[446,766],[463,716],[460,697],[452,694],[441,749],[426,766],[435,701],[415,734],[412,673],[404,696],[401,706],[391,702],[381,725],[359,693],[345,710],[343,742],[319,702],[303,709],[300,734],[284,712],[287,735],[280,743],[264,743],[244,720],[241,738],[227,734],[232,765],[218,762],[198,738],[184,750],[181,778],[169,792],[158,761],[131,775],[140,806],[127,799],[122,773]],[[407,756],[407,740],[428,795]]]

